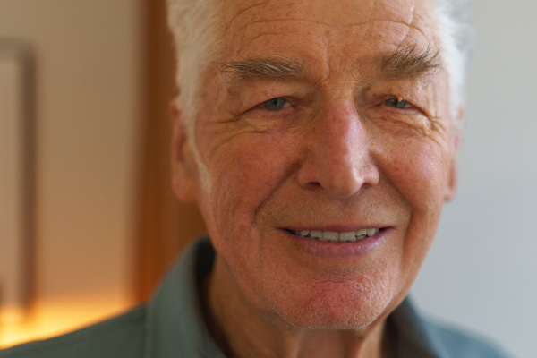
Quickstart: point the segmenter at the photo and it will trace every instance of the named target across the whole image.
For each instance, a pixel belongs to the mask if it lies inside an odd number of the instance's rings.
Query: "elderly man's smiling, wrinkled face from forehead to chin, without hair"
[[[454,191],[433,7],[227,3],[195,141],[175,138],[175,189],[199,202],[220,279],[256,310],[303,328],[381,320]]]

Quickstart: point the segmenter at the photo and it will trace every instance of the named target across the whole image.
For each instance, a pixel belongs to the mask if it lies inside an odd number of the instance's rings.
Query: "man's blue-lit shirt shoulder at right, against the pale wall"
[[[434,344],[448,357],[507,358],[499,347],[474,333],[433,320],[425,320],[425,325]]]

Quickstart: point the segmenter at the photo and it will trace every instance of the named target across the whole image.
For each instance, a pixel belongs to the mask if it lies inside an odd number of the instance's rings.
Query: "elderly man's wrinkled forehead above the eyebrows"
[[[437,40],[430,0],[223,0],[226,60],[256,55],[319,57],[349,50],[430,47]],[[365,53],[363,54],[365,55]]]

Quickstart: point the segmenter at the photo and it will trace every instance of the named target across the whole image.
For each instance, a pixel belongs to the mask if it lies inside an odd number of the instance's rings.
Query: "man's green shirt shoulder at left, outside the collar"
[[[0,351],[0,358],[141,357],[145,306],[64,336]]]

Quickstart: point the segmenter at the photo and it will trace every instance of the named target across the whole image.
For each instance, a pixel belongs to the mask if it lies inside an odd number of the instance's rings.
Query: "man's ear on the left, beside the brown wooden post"
[[[172,120],[172,189],[184,202],[196,199],[196,163],[192,155],[192,141],[188,138],[181,107],[176,100],[170,104]]]

